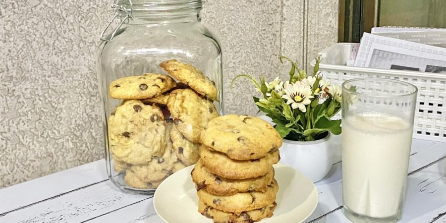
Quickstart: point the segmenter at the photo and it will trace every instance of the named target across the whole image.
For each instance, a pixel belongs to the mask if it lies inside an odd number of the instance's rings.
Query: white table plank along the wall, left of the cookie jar
[[[107,179],[105,160],[99,160],[0,189],[0,216]]]

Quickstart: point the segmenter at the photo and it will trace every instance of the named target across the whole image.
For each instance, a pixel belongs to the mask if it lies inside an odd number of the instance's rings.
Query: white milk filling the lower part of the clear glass
[[[395,218],[405,193],[412,125],[385,113],[342,119],[342,184],[346,211]]]

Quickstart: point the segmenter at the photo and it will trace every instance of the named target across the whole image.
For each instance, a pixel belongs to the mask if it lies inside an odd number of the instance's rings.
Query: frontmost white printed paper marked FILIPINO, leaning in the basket
[[[354,66],[446,72],[446,49],[364,33]]]

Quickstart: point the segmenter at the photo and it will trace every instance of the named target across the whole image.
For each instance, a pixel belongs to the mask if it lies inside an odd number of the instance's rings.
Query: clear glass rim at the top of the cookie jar
[[[200,10],[203,0],[116,0],[132,12],[169,12],[180,10]]]

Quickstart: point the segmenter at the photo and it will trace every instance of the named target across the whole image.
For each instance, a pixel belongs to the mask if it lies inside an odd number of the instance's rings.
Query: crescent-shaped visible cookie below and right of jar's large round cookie
[[[163,156],[152,157],[152,160],[147,165],[133,165],[130,167],[130,170],[132,170],[142,182],[156,182],[170,175],[173,164],[178,160],[173,151],[172,142],[170,141],[169,132],[172,127],[173,123],[168,123],[166,125],[166,149]]]

